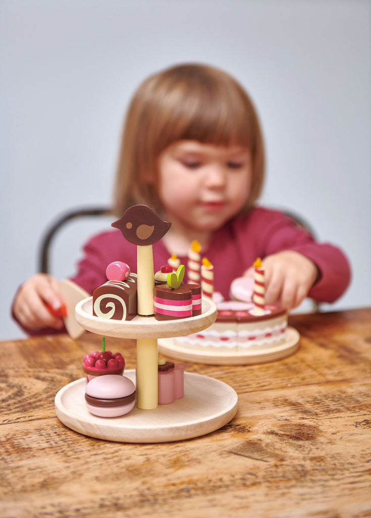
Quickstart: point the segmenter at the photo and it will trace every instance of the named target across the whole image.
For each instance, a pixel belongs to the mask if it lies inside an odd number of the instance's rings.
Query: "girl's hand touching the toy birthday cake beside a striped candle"
[[[268,255],[261,261],[266,277],[266,304],[279,303],[282,308],[299,306],[318,276],[317,266],[307,257],[293,250]],[[253,277],[254,267],[244,272]]]

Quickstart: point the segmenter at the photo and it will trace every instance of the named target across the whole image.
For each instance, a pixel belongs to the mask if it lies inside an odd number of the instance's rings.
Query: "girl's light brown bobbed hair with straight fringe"
[[[224,71],[182,64],[148,77],[131,100],[116,172],[115,214],[135,204],[162,212],[157,161],[164,149],[179,140],[249,148],[253,178],[245,209],[252,206],[262,188],[265,159],[251,99]]]

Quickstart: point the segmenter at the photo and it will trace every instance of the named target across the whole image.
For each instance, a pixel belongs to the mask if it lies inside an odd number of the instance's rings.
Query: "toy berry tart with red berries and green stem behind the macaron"
[[[125,359],[121,353],[113,353],[105,350],[105,339],[102,339],[102,351],[94,351],[90,354],[85,354],[83,358],[83,371],[85,381],[97,376],[104,376],[105,374],[116,374],[122,376],[125,369]]]

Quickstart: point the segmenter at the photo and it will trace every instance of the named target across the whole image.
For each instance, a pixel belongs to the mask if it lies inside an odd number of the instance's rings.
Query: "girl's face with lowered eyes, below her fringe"
[[[170,221],[214,231],[233,217],[250,194],[249,149],[180,140],[159,156],[159,195]]]

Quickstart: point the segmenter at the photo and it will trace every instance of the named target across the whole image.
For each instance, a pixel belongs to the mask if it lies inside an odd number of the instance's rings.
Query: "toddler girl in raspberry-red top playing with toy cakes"
[[[346,257],[331,244],[315,242],[285,214],[256,206],[263,179],[259,121],[234,78],[211,66],[183,64],[140,85],[123,129],[113,215],[144,204],[172,222],[153,245],[154,270],[172,254],[187,265],[197,240],[214,265],[215,291],[226,299],[231,281],[251,276],[261,257],[267,304],[290,310],[306,296],[334,301],[350,280]],[[113,261],[136,271],[136,247],[119,230],[88,241],[72,280],[92,293],[106,281]],[[14,318],[26,332],[63,327],[45,303],[58,309],[63,300],[56,279],[37,274],[13,303]]]

